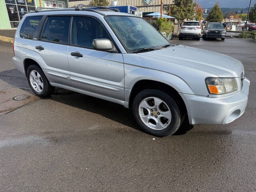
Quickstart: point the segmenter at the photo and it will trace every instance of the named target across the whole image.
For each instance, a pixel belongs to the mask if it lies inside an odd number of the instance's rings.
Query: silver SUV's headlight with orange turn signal
[[[221,95],[234,92],[238,89],[235,78],[208,77],[205,79],[205,82],[210,94]]]

